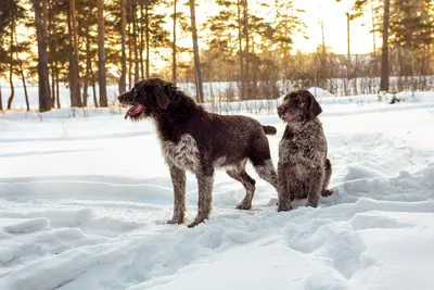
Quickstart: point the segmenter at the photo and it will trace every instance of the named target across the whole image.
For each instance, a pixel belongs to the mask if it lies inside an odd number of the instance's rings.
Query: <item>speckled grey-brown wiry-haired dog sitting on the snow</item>
[[[327,140],[318,115],[321,106],[308,90],[293,91],[284,97],[278,114],[286,123],[279,143],[279,206],[291,210],[291,202],[307,198],[307,206],[317,207],[332,174],[327,157]]]

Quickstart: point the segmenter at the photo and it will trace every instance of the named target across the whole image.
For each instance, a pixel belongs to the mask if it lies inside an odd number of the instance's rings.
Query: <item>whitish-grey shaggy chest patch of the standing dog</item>
[[[191,135],[182,135],[178,142],[163,141],[162,151],[167,164],[193,173],[197,172],[199,149]]]

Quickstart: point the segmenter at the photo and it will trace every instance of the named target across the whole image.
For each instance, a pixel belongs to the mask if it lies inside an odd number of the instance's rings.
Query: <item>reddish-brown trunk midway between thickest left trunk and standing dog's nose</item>
[[[80,96],[80,76],[78,67],[78,40],[77,40],[77,21],[75,17],[75,0],[69,0],[69,17],[72,24],[71,40],[72,40],[72,55],[69,59],[69,92],[71,92],[71,106],[81,106]]]

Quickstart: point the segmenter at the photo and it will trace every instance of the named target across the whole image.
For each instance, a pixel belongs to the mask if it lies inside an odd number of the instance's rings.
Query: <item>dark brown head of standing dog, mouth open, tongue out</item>
[[[117,97],[122,105],[131,106],[125,118],[139,121],[166,110],[173,87],[170,83],[159,78],[148,78],[136,83],[132,89]]]

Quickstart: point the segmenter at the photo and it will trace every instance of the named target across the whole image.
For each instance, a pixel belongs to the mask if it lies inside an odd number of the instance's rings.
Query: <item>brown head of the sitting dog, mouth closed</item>
[[[308,90],[288,93],[278,106],[279,117],[285,123],[312,121],[321,112],[321,106]]]

